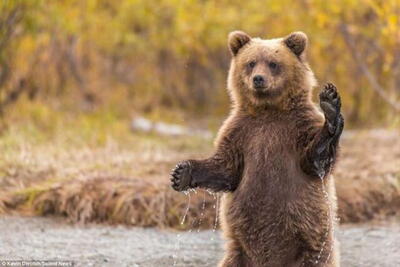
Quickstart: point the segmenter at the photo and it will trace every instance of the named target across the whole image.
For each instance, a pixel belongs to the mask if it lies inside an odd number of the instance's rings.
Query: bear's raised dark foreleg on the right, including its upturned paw
[[[325,85],[319,97],[320,106],[325,115],[325,124],[306,150],[301,165],[307,174],[322,178],[330,171],[336,160],[344,121],[340,114],[340,96],[333,84]]]

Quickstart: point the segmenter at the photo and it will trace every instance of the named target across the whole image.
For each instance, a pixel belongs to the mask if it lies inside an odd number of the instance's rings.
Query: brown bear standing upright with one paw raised
[[[172,187],[225,192],[220,266],[339,266],[330,175],[344,125],[336,87],[322,89],[321,113],[302,32],[262,40],[234,31],[228,43],[231,114],[215,154],[179,163]]]

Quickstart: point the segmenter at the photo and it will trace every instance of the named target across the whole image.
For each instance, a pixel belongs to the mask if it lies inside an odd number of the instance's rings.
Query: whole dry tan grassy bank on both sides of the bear
[[[198,156],[199,150],[200,155],[208,154],[211,142],[132,138],[124,144],[110,141],[97,149],[74,147],[62,152],[50,145],[20,147],[18,153],[9,154],[14,156],[3,156],[0,213],[58,215],[76,223],[213,227],[215,196],[192,192],[181,224],[188,196],[168,184],[169,169],[176,161]],[[349,132],[342,147],[335,174],[341,222],[399,216],[398,132]]]

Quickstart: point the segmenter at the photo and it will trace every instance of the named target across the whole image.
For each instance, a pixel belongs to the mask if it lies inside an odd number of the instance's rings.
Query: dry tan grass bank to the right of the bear
[[[400,217],[399,132],[350,132],[342,147],[335,174],[341,220]]]

